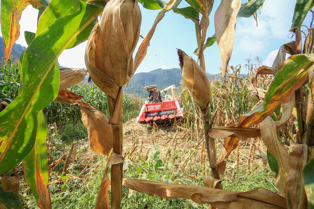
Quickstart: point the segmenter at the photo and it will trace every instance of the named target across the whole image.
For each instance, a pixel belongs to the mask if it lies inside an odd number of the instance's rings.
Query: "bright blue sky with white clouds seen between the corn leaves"
[[[242,0],[242,3],[246,0]],[[213,10],[209,15],[209,28],[207,37],[214,34],[214,12],[220,1],[215,0]],[[261,15],[258,14],[258,26],[253,17],[238,18],[235,29],[234,50],[231,56],[230,65],[242,66],[242,73],[246,73],[246,59],[252,59],[259,55],[263,64],[271,66],[280,46],[291,41],[288,38],[290,32],[292,15],[295,0],[265,0],[262,6]],[[142,24],[140,34],[145,37],[155,21],[160,10],[148,10],[139,3],[142,12]],[[188,4],[182,1],[179,7],[186,7]],[[32,6],[27,6],[22,13],[20,21],[21,36],[16,43],[26,46],[24,31],[36,32],[37,10]],[[305,25],[309,25],[310,15],[305,19]],[[139,39],[137,47],[142,42]],[[84,52],[86,41],[72,48],[66,49],[58,58],[59,64],[70,68],[86,68],[84,63]],[[137,51],[135,48],[133,57]],[[197,60],[193,55],[197,47],[194,23],[185,19],[173,11],[165,14],[165,17],[157,25],[155,34],[150,42],[145,59],[136,72],[147,72],[161,69],[180,68],[176,48],[180,48],[188,55]],[[206,71],[211,74],[220,73],[221,60],[217,43],[208,47],[205,52]]]

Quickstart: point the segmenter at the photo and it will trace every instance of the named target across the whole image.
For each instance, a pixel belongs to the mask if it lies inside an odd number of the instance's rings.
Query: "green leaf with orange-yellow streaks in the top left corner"
[[[1,0],[1,32],[4,41],[4,59],[8,60],[13,44],[20,37],[19,21],[23,10],[28,5],[43,11],[48,0]]]

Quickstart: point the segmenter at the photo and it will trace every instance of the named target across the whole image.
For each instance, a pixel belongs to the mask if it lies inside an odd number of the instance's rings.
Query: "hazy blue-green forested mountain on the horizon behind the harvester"
[[[210,81],[218,75],[206,74]],[[181,70],[179,68],[140,72],[133,75],[125,92],[146,98],[148,93],[144,89],[145,86],[157,85],[158,90],[161,91],[173,84],[176,85],[176,87],[179,87],[181,85],[181,80]]]

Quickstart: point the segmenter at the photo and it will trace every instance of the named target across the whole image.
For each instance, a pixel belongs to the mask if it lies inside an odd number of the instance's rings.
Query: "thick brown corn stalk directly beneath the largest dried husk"
[[[110,98],[111,99],[111,98]],[[122,97],[121,97],[122,99]],[[109,97],[108,97],[109,100]],[[120,107],[116,106],[120,104]],[[113,112],[116,108],[122,109],[122,102],[115,101],[114,107],[111,102],[108,102],[108,109],[110,117],[113,115]],[[122,113],[122,111],[120,112]],[[119,116],[119,118],[121,118]],[[113,137],[113,152],[122,155],[122,131],[123,123],[120,120],[120,125],[111,125],[112,127],[112,137]],[[122,166],[123,163],[111,165],[111,208],[112,209],[121,209],[121,200],[122,200]]]

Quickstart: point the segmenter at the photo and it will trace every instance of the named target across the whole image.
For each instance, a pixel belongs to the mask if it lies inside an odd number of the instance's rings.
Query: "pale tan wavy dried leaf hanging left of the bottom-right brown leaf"
[[[273,119],[268,116],[260,123],[262,140],[268,151],[275,156],[279,167],[275,185],[281,195],[285,196],[285,187],[288,178],[289,154],[285,146],[278,140],[276,126]]]

